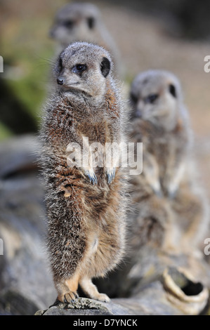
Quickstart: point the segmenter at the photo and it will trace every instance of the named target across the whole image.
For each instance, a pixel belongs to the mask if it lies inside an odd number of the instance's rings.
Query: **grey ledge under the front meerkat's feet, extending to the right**
[[[206,303],[206,301],[205,301]],[[199,312],[204,310],[205,304]],[[155,281],[145,286],[138,296],[113,298],[110,303],[79,298],[75,303],[58,303],[35,315],[194,315],[198,310],[183,310],[168,298],[164,285]]]

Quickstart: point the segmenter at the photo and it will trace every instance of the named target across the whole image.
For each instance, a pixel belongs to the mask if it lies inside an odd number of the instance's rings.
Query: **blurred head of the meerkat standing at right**
[[[140,73],[131,84],[131,119],[151,121],[166,130],[173,129],[182,112],[182,94],[178,79],[162,70]]]

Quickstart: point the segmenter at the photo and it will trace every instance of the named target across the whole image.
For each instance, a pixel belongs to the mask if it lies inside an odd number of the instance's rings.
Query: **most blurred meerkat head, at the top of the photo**
[[[66,4],[55,15],[50,37],[64,47],[74,41],[97,42],[100,11],[93,4]]]

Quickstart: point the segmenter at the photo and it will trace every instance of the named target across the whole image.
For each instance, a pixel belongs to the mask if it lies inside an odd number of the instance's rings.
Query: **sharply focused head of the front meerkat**
[[[63,92],[103,100],[111,70],[112,60],[104,48],[76,42],[60,53],[54,75]]]

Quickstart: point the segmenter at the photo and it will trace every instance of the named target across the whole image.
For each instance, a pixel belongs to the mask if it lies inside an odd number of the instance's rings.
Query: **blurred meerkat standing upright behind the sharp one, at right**
[[[150,70],[136,76],[130,96],[130,136],[143,143],[143,173],[131,178],[138,227],[133,244],[198,247],[209,225],[208,206],[196,178],[181,85],[171,72]]]

